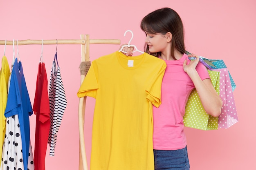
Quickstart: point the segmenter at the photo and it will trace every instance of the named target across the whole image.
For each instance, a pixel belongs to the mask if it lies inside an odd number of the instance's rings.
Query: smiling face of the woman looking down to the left
[[[160,33],[152,34],[146,32],[145,42],[148,44],[150,53],[157,53],[166,51],[168,39],[166,35]]]

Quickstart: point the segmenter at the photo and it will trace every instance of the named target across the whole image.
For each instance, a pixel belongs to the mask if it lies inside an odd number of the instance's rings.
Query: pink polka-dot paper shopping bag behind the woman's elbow
[[[217,69],[216,71],[220,72],[220,98],[223,101],[218,128],[229,128],[238,122],[231,80],[227,68]]]

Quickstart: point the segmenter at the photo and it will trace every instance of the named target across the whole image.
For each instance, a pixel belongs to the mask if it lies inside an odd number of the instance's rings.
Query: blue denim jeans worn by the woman
[[[186,147],[179,150],[154,150],[155,170],[189,170]]]

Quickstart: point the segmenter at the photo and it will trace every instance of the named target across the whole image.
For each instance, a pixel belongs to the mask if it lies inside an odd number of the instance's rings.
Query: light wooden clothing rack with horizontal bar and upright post
[[[42,44],[42,40],[18,40],[14,41],[14,45]],[[0,45],[13,45],[13,41],[0,40]],[[120,44],[118,39],[90,39],[90,35],[80,35],[80,40],[43,40],[43,44],[81,44],[81,63],[90,62],[89,46],[90,44]],[[81,71],[80,71],[81,72]],[[81,84],[85,78],[85,74],[81,73]],[[84,118],[85,118],[86,96],[79,98],[79,170],[88,170],[85,141],[84,141]]]

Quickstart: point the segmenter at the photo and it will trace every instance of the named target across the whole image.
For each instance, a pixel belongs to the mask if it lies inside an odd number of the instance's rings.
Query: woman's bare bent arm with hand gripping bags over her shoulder
[[[198,92],[204,110],[213,117],[218,117],[221,113],[222,108],[222,99],[215,91],[211,79],[202,80],[198,75],[198,72],[195,70],[199,61],[199,57],[196,60],[191,60],[187,65],[187,61],[184,61],[183,68],[184,71],[189,75],[193,81],[195,88]]]

